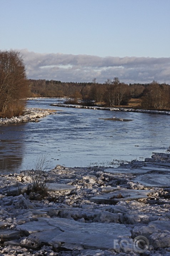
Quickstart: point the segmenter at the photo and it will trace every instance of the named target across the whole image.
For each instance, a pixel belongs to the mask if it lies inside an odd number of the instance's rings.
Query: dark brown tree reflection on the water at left
[[[0,127],[0,171],[13,173],[20,170],[25,151],[25,124]]]

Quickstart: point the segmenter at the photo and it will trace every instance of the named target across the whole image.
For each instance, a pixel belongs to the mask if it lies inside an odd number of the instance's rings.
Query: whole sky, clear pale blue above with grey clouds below
[[[0,50],[27,78],[170,84],[170,0],[0,0]]]

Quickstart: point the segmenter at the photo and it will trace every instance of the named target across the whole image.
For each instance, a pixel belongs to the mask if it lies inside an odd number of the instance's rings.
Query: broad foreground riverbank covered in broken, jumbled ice
[[[1,255],[170,255],[170,154],[47,175],[43,200],[27,171],[1,175]]]

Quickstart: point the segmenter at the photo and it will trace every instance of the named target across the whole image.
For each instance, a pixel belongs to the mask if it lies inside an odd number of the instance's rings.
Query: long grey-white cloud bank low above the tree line
[[[148,83],[153,80],[170,84],[170,58],[99,57],[62,53],[35,53],[20,50],[31,79],[60,80],[62,82],[103,83],[119,77],[124,83]]]

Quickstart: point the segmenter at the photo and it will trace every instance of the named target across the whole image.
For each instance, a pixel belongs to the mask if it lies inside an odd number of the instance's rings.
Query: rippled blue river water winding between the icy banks
[[[170,116],[50,106],[61,99],[28,100],[27,107],[50,108],[56,114],[40,122],[0,126],[0,171],[32,169],[40,155],[49,168],[105,165],[144,160],[170,145]],[[120,117],[121,122],[100,118]]]

